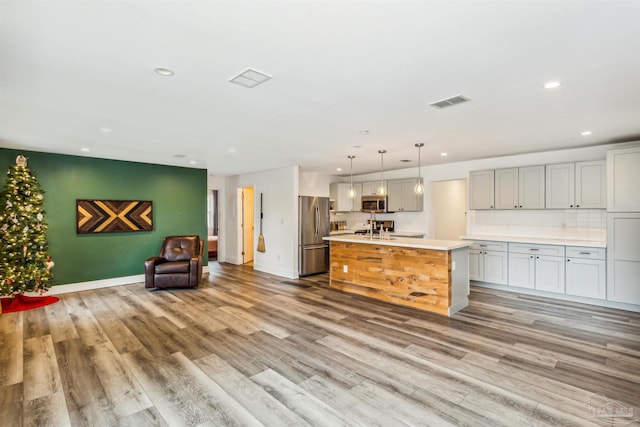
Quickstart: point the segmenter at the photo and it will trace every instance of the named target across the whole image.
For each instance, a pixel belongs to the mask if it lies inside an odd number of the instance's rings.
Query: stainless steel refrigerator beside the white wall
[[[298,197],[298,269],[300,276],[329,271],[329,198]]]

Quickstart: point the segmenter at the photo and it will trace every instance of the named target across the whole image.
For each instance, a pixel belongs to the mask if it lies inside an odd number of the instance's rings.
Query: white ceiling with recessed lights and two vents
[[[2,147],[214,175],[344,174],[354,154],[359,174],[379,149],[415,167],[416,142],[425,165],[640,139],[640,1],[0,7]],[[229,83],[247,67],[273,79]]]

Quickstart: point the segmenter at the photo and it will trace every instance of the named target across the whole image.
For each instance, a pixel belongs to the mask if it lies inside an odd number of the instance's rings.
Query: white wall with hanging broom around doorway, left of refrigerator
[[[265,252],[254,249],[253,268],[289,278],[298,276],[298,166],[236,175],[226,178],[225,253],[220,261],[241,264],[238,257],[237,189],[253,187],[255,237],[260,233],[260,193],[263,194]],[[328,184],[327,184],[328,188]]]

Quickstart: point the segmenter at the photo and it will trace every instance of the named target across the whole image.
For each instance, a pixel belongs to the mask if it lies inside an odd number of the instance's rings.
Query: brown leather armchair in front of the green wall
[[[199,236],[167,236],[160,256],[144,262],[145,288],[194,288],[202,277],[204,245]]]

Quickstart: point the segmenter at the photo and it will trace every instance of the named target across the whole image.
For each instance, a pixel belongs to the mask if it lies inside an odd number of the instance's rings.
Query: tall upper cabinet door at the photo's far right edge
[[[607,210],[640,212],[640,146],[607,152]]]

